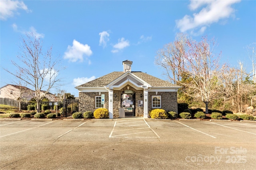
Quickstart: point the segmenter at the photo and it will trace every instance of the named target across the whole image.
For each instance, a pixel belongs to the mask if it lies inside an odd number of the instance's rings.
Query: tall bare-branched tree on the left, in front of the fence
[[[58,78],[59,70],[57,70],[60,59],[54,59],[52,47],[44,52],[41,39],[33,33],[27,33],[25,38],[22,37],[20,51],[17,56],[18,60],[12,61],[17,68],[16,72],[6,68],[4,70],[34,88],[36,110],[40,112],[40,102],[45,98],[47,92],[60,86],[61,79]],[[46,93],[42,93],[42,90]]]

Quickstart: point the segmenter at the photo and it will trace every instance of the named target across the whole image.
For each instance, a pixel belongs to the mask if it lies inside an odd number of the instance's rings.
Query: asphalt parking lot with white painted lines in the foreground
[[[1,170],[255,167],[255,122],[0,119]]]

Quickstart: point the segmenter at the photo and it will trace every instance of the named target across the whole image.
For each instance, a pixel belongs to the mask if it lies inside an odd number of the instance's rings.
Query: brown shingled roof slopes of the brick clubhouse
[[[122,74],[125,74],[124,72],[111,72],[110,74],[106,74],[105,76],[102,76],[100,78],[97,78],[95,80],[92,80],[90,82],[87,82],[85,84],[82,84],[79,87],[104,87],[107,86],[110,82],[116,80],[118,77],[122,76]],[[132,72],[135,76],[141,78],[148,84],[150,84],[153,87],[179,87],[175,84],[172,84],[170,82],[164,81],[160,78],[151,76],[149,74],[146,74],[144,72]]]

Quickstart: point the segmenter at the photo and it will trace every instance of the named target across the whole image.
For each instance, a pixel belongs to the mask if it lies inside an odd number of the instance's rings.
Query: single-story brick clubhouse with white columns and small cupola
[[[132,61],[123,61],[122,72],[112,72],[80,86],[79,111],[106,108],[109,118],[148,117],[152,109],[178,113],[177,92],[180,86],[144,72],[132,71]],[[124,113],[123,113],[124,112]]]

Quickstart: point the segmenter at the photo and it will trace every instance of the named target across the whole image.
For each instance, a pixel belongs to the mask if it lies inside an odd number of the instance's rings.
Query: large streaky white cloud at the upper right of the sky
[[[193,17],[185,15],[182,19],[176,20],[176,27],[181,32],[192,30],[191,33],[194,34],[203,33],[206,26],[234,15],[235,10],[231,5],[238,2],[240,0],[191,0],[190,10],[205,7],[199,13],[194,13]],[[195,33],[195,30],[199,30],[198,33]]]

